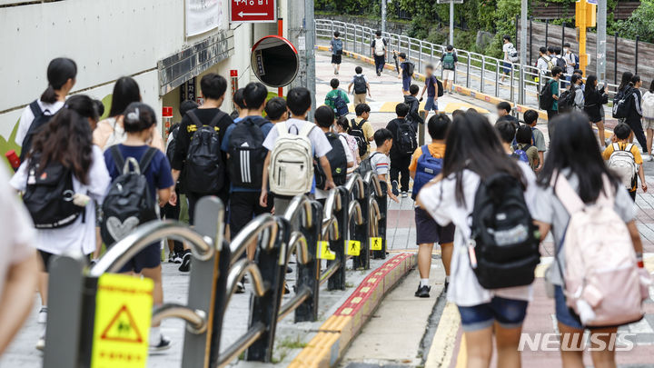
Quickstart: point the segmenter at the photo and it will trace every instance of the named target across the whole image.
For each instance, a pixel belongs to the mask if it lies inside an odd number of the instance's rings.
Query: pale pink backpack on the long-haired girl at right
[[[564,175],[555,191],[570,213],[563,240],[566,303],[585,326],[632,323],[643,316],[650,276],[639,269],[627,225],[614,210],[615,195],[600,194],[584,204]],[[604,177],[604,188],[612,188]]]

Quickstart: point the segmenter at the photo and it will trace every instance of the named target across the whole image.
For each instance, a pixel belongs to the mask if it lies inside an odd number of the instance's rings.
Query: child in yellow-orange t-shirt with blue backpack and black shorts
[[[437,114],[431,116],[427,123],[427,130],[431,136],[431,144],[423,145],[416,149],[411,157],[409,172],[413,179],[413,199],[420,194],[420,189],[416,186],[427,184],[428,180],[441,174],[430,167],[430,158],[441,160],[445,157],[445,135],[450,129],[451,120],[446,114]],[[425,151],[426,150],[426,151]],[[429,155],[429,156],[428,156]],[[416,173],[420,172],[420,174]],[[431,270],[431,252],[433,245],[441,244],[441,261],[445,268],[445,287],[443,291],[447,293],[450,285],[450,264],[452,255],[452,245],[454,242],[454,224],[441,226],[434,221],[427,211],[419,206],[415,207],[416,223],[416,244],[418,244],[418,270],[420,272],[420,284],[415,296],[419,298],[429,298],[431,286],[429,285],[429,275]]]

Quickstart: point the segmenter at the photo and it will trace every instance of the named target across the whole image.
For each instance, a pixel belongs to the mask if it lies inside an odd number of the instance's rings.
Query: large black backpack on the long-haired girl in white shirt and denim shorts
[[[532,283],[540,263],[540,239],[520,181],[504,173],[482,180],[471,218],[471,265],[481,286]]]

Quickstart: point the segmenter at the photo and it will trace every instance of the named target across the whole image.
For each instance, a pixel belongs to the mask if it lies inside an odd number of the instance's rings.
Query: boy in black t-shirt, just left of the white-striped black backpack
[[[203,105],[186,113],[180,124],[179,134],[177,135],[177,143],[175,145],[175,152],[173,155],[172,173],[173,181],[177,183],[182,181],[186,198],[188,199],[189,211],[189,224],[195,224],[195,204],[205,195],[217,195],[223,204],[228,202],[229,187],[224,185],[224,163],[226,162],[226,155],[222,154],[220,157],[223,163],[222,171],[214,173],[216,177],[203,178],[198,182],[197,178],[190,176],[188,172],[184,177],[180,177],[183,169],[188,163],[188,153],[191,145],[191,140],[194,134],[205,125],[213,126],[214,134],[218,135],[218,144],[222,144],[225,131],[227,127],[233,124],[232,118],[220,110],[223,105],[224,94],[227,91],[227,81],[221,75],[210,73],[204,75],[200,80],[200,95],[203,98]],[[220,148],[219,148],[220,150]],[[211,180],[210,180],[211,179]],[[207,188],[201,185],[209,185],[213,182],[213,188]],[[222,185],[221,185],[222,184]],[[171,196],[171,204],[177,203],[177,197],[173,193]],[[180,271],[188,272],[191,266],[191,250],[184,248],[184,255]]]

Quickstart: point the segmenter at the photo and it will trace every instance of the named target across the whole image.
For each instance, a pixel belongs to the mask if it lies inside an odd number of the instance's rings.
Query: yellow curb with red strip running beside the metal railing
[[[417,254],[402,253],[363,279],[354,293],[319,328],[289,368],[335,366],[363,325],[371,318],[383,296],[416,264]]]

